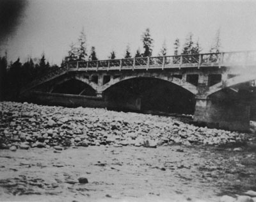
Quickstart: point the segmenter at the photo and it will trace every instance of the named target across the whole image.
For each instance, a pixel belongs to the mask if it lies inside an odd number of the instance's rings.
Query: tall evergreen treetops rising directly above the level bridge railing
[[[143,52],[141,52],[140,48],[136,50],[136,53],[134,54],[134,58],[141,58],[141,57],[150,57],[152,56],[153,47],[154,47],[154,40],[152,39],[152,36],[150,34],[150,29],[147,28],[145,32],[141,35],[141,42],[143,45]],[[174,50],[173,54],[170,55],[179,55],[179,54],[198,54],[202,51],[202,48],[200,47],[199,40],[195,42],[193,39],[193,33],[189,33],[186,37],[186,41],[180,50],[180,40],[177,38],[175,42],[173,43]],[[218,29],[216,36],[214,38],[214,43],[212,43],[211,48],[209,49],[209,52],[220,52],[220,29]],[[69,61],[93,61],[98,60],[96,56],[96,49],[93,46],[90,50],[90,54],[87,54],[87,47],[86,47],[86,35],[84,34],[84,29],[81,31],[77,42],[71,43],[70,50],[68,51],[68,56],[66,56],[62,63],[62,65],[65,65],[65,63]],[[163,46],[157,56],[166,56],[167,55],[167,45],[166,41],[164,40]],[[131,47],[129,44],[127,45],[125,52],[124,52],[124,58],[132,58],[131,54]],[[112,50],[109,53],[108,59],[115,59],[116,58],[116,52],[115,50]]]

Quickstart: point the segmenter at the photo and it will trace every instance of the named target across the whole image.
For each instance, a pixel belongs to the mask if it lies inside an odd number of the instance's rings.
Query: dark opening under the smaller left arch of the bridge
[[[70,79],[54,86],[54,89],[51,93],[96,96],[95,89],[93,89],[88,84],[76,79]]]

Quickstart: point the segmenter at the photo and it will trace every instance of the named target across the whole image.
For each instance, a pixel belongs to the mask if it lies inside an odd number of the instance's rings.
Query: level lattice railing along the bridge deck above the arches
[[[69,62],[69,68],[87,70],[115,70],[122,68],[177,68],[188,66],[225,66],[256,63],[256,51],[182,54],[144,58],[107,59]]]

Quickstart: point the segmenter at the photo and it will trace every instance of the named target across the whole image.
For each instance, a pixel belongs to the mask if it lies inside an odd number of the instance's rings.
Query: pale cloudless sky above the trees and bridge
[[[138,47],[143,52],[147,27],[154,56],[164,40],[172,55],[175,38],[182,47],[189,32],[199,38],[202,52],[209,52],[219,28],[221,50],[256,50],[256,1],[30,0],[21,21],[4,45],[12,61],[44,52],[50,63],[60,65],[83,27],[88,52],[95,46],[99,59],[108,59],[112,50],[124,58],[128,43],[132,56]]]

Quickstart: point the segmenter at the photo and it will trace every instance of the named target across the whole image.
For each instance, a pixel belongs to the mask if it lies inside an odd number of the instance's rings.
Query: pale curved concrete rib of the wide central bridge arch
[[[172,76],[167,77],[165,75],[153,75],[152,76],[152,75],[145,75],[145,74],[127,75],[124,77],[121,76],[121,77],[117,77],[115,79],[111,79],[108,83],[106,83],[102,86],[100,91],[104,92],[104,91],[106,91],[106,89],[117,84],[118,82],[126,81],[128,79],[138,79],[138,78],[160,79],[163,81],[168,81],[173,84],[176,84],[177,86],[180,86],[180,87],[186,89],[190,93],[193,93],[193,95],[196,95],[198,93],[196,86],[194,86],[193,84],[191,84],[189,82],[183,81],[182,79],[172,77]]]

